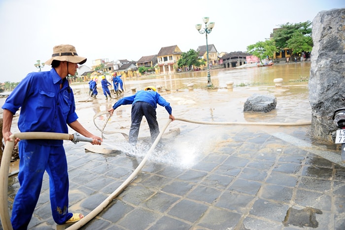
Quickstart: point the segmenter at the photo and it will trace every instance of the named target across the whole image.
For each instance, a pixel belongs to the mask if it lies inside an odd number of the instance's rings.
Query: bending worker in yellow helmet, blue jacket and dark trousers
[[[148,126],[150,128],[151,140],[154,142],[159,135],[159,126],[156,117],[157,104],[165,107],[169,113],[169,118],[174,120],[175,117],[172,115],[172,107],[153,86],[147,86],[145,90],[139,90],[136,94],[128,97],[121,98],[114,106],[108,110],[109,114],[112,115],[114,110],[121,105],[132,104],[131,112],[131,129],[129,133],[129,142],[136,145],[138,141],[138,134],[142,116],[145,116]]]

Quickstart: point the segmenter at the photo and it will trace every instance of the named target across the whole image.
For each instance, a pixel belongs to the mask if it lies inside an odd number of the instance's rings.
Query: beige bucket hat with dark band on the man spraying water
[[[86,58],[78,56],[73,45],[67,44],[54,46],[52,57],[44,64],[51,65],[53,60],[68,61],[80,65],[86,62]]]

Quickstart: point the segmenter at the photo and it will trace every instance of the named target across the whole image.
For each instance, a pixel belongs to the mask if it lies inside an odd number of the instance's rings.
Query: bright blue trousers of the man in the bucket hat
[[[54,221],[61,225],[72,217],[68,212],[69,178],[63,146],[43,146],[19,142],[20,188],[13,201],[11,223],[14,230],[26,230],[42,187],[44,171],[49,175],[50,204]]]

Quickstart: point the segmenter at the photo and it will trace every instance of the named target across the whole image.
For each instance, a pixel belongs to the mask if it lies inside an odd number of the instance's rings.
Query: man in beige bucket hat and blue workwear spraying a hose
[[[86,58],[77,55],[72,45],[57,45],[52,58],[45,62],[52,69],[28,74],[8,96],[3,109],[2,135],[11,141],[13,115],[20,110],[18,127],[21,132],[68,133],[68,126],[93,145],[101,145],[102,138],[87,131],[77,120],[68,75],[74,76],[78,64]],[[20,188],[13,201],[11,223],[14,230],[26,230],[35,210],[42,186],[44,171],[49,175],[50,203],[54,221],[61,225],[83,218],[70,213],[69,178],[63,140],[19,140]]]

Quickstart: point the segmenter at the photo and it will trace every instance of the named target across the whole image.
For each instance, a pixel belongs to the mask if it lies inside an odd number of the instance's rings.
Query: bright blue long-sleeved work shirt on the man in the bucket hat
[[[60,89],[60,84],[63,84]],[[75,121],[75,101],[68,81],[52,68],[28,74],[7,97],[2,109],[15,114],[20,109],[21,132],[68,133],[67,124]],[[63,140],[22,140],[42,145],[60,146]]]

